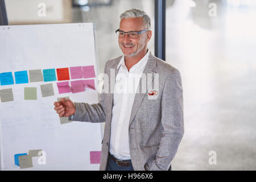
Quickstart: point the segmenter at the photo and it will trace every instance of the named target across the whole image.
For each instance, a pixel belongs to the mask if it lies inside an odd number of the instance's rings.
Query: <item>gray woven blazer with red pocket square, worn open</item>
[[[110,78],[110,69],[117,76],[117,57],[108,60],[104,73]],[[146,93],[135,94],[129,123],[129,146],[134,170],[168,170],[184,134],[183,89],[177,69],[150,53],[143,73],[147,77]],[[158,73],[158,95],[149,96],[154,90],[154,73]],[[112,74],[113,75],[113,74]],[[138,89],[142,89],[142,79]],[[75,103],[76,113],[73,121],[106,122],[102,140],[100,170],[105,170],[109,155],[109,140],[112,121],[114,84],[104,80],[112,92],[101,93],[98,104]]]

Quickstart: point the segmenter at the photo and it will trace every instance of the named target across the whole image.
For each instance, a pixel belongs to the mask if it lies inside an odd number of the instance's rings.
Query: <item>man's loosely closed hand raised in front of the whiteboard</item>
[[[59,102],[54,102],[54,109],[59,117],[69,117],[76,113],[75,104],[71,100],[61,98]]]

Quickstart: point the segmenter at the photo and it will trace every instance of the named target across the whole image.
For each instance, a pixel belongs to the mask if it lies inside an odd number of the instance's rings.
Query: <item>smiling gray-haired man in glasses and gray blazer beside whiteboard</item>
[[[180,73],[148,51],[152,31],[144,11],[127,10],[120,18],[116,33],[124,56],[105,65],[110,93],[92,105],[61,100],[55,110],[73,121],[106,122],[100,170],[170,170],[184,133]],[[128,93],[131,87],[135,92]]]

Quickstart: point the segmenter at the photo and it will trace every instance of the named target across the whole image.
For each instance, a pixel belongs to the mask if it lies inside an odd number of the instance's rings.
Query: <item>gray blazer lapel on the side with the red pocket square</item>
[[[147,60],[147,64],[144,68],[143,74],[146,75],[146,81],[147,81],[147,90],[146,93],[142,93],[141,91],[143,90],[142,88],[142,77],[139,80],[139,86],[137,89],[137,93],[135,94],[134,97],[134,102],[133,102],[133,109],[131,109],[131,117],[130,117],[130,121],[129,121],[129,126],[131,125],[131,122],[133,121],[139,106],[141,105],[141,102],[143,100],[143,98],[146,96],[147,92],[148,92],[148,88],[150,88],[150,86],[152,85],[152,82],[154,81],[154,69],[156,68],[156,59],[155,56],[153,56],[150,53],[150,56],[148,57]],[[151,73],[151,77],[148,77],[148,74]]]

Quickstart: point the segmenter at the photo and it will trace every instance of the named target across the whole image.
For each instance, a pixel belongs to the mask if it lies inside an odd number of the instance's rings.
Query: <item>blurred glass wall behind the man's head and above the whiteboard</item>
[[[127,9],[144,10],[154,32],[154,0],[6,0],[9,24],[96,23],[99,71],[106,61],[122,55],[115,30],[119,15]],[[154,53],[154,34],[148,43]],[[86,57],[86,55],[85,55]],[[86,58],[85,58],[86,59]]]

